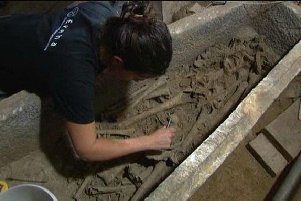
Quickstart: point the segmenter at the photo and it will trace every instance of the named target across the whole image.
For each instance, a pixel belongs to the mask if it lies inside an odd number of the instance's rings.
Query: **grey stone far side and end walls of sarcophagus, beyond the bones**
[[[272,9],[271,9],[272,8]],[[284,55],[301,37],[301,7],[292,3],[243,5],[229,2],[170,24],[171,67],[191,64],[208,46],[226,43],[240,29],[251,27],[266,36],[268,45]]]

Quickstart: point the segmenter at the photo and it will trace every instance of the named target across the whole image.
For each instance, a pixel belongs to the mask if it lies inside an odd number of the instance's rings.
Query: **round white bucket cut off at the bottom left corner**
[[[0,193],[0,201],[57,201],[57,198],[46,188],[23,184],[9,188]]]

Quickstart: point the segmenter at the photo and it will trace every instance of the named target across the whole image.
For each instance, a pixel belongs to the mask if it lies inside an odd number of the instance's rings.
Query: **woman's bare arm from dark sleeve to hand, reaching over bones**
[[[140,151],[167,149],[175,136],[175,130],[170,128],[132,139],[97,139],[95,122],[76,124],[67,121],[66,126],[76,153],[88,161],[110,160]]]

